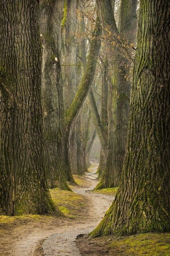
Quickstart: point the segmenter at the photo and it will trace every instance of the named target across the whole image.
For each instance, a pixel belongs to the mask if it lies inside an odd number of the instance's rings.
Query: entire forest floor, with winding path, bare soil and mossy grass
[[[0,256],[169,256],[169,233],[76,239],[95,228],[114,199],[115,188],[91,191],[99,182],[97,166],[74,176],[79,185],[69,184],[73,192],[50,190],[66,217],[0,216]]]

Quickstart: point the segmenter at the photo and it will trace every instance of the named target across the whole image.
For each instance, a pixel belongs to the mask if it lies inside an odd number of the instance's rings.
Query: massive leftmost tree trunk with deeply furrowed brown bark
[[[0,1],[0,214],[59,212],[43,163],[36,0]]]

